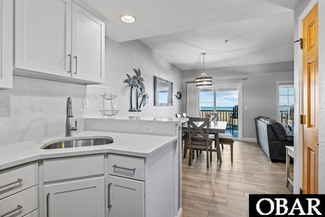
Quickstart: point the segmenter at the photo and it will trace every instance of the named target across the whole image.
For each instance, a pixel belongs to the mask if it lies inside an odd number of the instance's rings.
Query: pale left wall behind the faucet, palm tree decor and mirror
[[[117,115],[174,116],[182,110],[182,100],[173,98],[174,106],[153,106],[153,76],[174,82],[174,94],[182,88],[181,72],[138,40],[115,43],[106,38],[106,82],[102,85],[80,85],[43,79],[13,76],[13,88],[0,90],[0,145],[45,136],[63,136],[66,124],[67,97],[72,98],[73,120],[83,129],[81,118],[101,116],[102,94],[117,95]],[[145,79],[149,103],[142,112],[128,112],[129,87],[125,74],[135,75],[140,68]],[[82,108],[82,99],[89,99],[89,108]],[[74,125],[74,122],[72,122]]]

